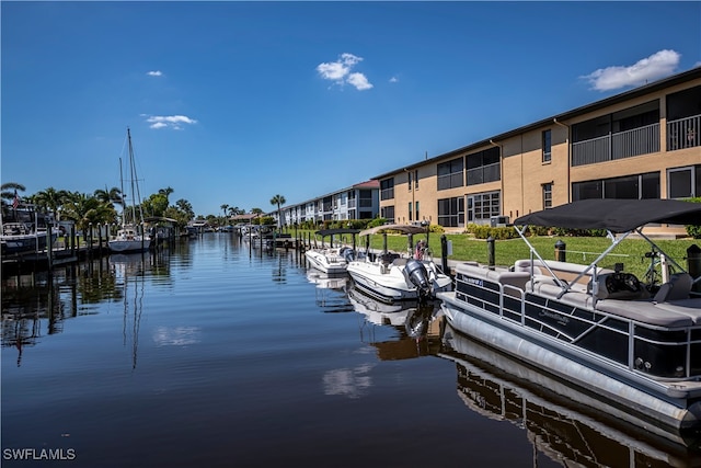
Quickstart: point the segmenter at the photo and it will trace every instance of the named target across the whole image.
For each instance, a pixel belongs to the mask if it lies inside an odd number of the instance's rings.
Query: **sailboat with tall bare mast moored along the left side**
[[[127,128],[127,141],[129,147],[129,183],[131,190],[131,203],[129,207],[127,207],[126,203],[124,204],[122,208],[122,228],[117,231],[117,235],[108,241],[110,250],[119,253],[143,252],[149,250],[149,247],[151,246],[151,237],[143,232],[143,212],[141,210],[141,199],[136,175],[136,163],[134,160],[134,147],[131,146],[131,133],[129,132],[129,128]],[[124,195],[122,158],[119,158],[119,179],[122,183],[122,194]],[[136,204],[137,201],[138,206]],[[128,221],[127,213],[130,213]]]

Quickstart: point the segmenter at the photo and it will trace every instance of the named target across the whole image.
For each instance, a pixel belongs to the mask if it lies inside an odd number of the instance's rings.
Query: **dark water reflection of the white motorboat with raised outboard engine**
[[[354,287],[348,289],[348,299],[364,318],[360,340],[374,346],[381,361],[411,359],[436,354],[440,350],[437,303],[384,304]],[[378,327],[390,327],[395,333],[378,338]]]

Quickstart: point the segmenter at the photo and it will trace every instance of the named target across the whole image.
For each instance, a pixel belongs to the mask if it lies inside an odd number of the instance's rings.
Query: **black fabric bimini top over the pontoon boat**
[[[583,199],[517,218],[517,226],[628,232],[650,222],[701,225],[701,203],[678,199]]]

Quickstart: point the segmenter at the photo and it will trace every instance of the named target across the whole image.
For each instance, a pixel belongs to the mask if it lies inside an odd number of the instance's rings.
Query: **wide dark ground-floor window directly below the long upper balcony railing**
[[[588,198],[659,198],[659,172],[572,184],[572,201]]]

